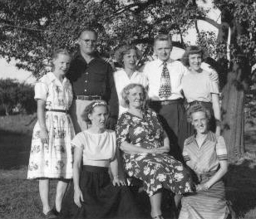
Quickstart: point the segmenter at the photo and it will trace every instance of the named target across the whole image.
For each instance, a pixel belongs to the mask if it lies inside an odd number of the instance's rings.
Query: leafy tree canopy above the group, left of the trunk
[[[83,27],[100,33],[98,51],[107,56],[125,43],[151,46],[157,32],[183,36],[199,15],[204,13],[190,1],[2,0],[0,52],[38,75],[54,47],[76,50]]]

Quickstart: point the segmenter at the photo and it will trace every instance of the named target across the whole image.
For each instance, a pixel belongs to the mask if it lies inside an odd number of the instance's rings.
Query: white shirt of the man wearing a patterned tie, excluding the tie
[[[167,99],[160,98],[160,79],[163,71],[163,61],[159,59],[150,61],[145,65],[144,73],[149,81],[150,100],[177,100],[183,98],[181,95],[181,79],[188,74],[188,69],[180,61],[167,61],[167,69],[170,73],[171,95]]]

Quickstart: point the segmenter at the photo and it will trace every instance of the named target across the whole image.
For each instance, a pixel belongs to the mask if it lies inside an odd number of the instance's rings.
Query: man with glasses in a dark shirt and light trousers
[[[83,30],[78,38],[80,50],[76,52],[66,77],[71,80],[74,100],[71,118],[76,133],[88,128],[81,118],[86,106],[92,100],[106,100],[110,109],[107,127],[115,129],[118,116],[118,97],[111,65],[96,55],[97,33]]]

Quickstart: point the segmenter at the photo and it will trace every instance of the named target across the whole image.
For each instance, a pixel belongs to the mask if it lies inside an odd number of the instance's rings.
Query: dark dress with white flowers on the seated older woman
[[[145,110],[143,119],[129,112],[121,114],[116,130],[119,147],[123,142],[143,148],[160,148],[164,144],[164,130],[152,110]],[[142,180],[149,196],[163,187],[177,194],[193,192],[190,173],[169,154],[122,153],[122,156],[126,173]]]

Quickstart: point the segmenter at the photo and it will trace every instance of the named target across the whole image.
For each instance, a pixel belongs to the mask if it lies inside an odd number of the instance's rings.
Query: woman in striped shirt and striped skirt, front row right
[[[196,134],[185,140],[183,156],[194,172],[196,192],[182,198],[179,219],[226,219],[229,208],[222,178],[228,171],[227,148],[222,136],[209,131],[209,110],[192,105],[188,119]]]

